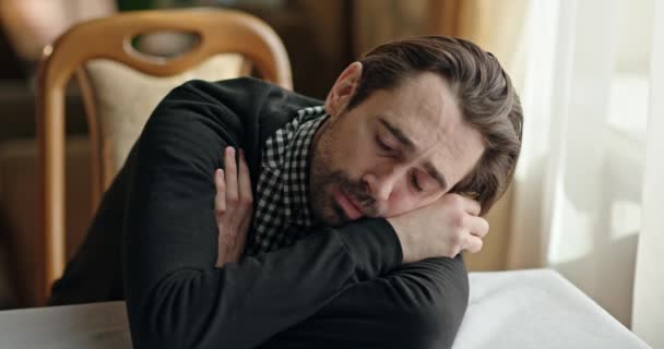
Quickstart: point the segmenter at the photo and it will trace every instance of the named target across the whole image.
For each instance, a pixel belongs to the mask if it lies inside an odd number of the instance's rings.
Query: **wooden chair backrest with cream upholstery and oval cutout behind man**
[[[134,48],[132,43],[138,36],[163,31],[192,34],[195,44],[173,58],[149,56]],[[122,13],[73,26],[44,49],[37,75],[36,115],[43,300],[67,262],[63,101],[71,77],[79,77],[86,106],[91,194],[96,206],[147,116],[170,88],[190,79],[235,77],[247,73],[248,67],[262,79],[292,88],[288,58],[277,35],[262,21],[230,10]],[[151,93],[135,94],[141,91]],[[118,100],[122,97],[133,100]]]

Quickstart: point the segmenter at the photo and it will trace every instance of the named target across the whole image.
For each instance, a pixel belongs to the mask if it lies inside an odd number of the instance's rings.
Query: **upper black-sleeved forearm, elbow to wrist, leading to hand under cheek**
[[[376,219],[323,229],[221,269],[182,265],[154,278],[132,267],[126,290],[134,346],[254,347],[398,265],[400,254],[382,251],[396,242],[386,227]],[[146,264],[145,251],[130,245],[127,255],[126,265]]]

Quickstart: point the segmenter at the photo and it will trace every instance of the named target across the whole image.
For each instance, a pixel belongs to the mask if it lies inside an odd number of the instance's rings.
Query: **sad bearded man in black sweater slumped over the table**
[[[451,346],[460,252],[520,151],[508,75],[471,43],[413,38],[320,105],[252,79],[174,89],[51,303],[126,299],[137,348]]]

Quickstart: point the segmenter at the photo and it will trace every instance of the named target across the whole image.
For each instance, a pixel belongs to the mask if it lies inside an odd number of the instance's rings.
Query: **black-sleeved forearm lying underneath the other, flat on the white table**
[[[461,256],[403,265],[349,286],[263,348],[449,348],[467,297]]]

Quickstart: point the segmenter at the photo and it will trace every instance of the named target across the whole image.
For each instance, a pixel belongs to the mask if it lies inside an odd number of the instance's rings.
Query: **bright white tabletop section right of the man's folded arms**
[[[560,274],[471,273],[454,349],[649,348]]]

